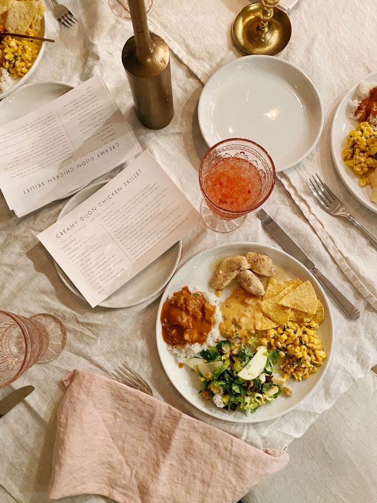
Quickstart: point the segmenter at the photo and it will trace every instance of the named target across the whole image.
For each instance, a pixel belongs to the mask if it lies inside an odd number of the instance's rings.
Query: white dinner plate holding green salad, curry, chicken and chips
[[[276,265],[285,269],[288,275],[292,278],[298,277],[303,281],[307,279],[311,281],[318,298],[321,300],[325,309],[325,319],[318,329],[318,334],[322,340],[323,349],[327,355],[323,365],[319,367],[318,372],[311,374],[308,379],[301,381],[301,383],[294,381],[294,379],[287,381],[287,386],[293,392],[292,396],[286,397],[281,394],[272,403],[263,405],[250,416],[246,416],[243,411],[237,410],[236,412],[227,412],[224,409],[218,409],[211,400],[205,400],[199,395],[201,388],[197,375],[186,366],[183,368],[178,367],[176,355],[167,350],[167,346],[162,338],[160,322],[161,308],[167,297],[170,297],[174,292],[179,291],[185,285],[188,285],[189,288],[197,287],[199,290],[204,292],[208,291],[210,289],[208,281],[213,274],[211,266],[213,266],[214,261],[219,257],[242,255],[248,251],[255,251],[257,253],[268,255],[274,260]],[[235,287],[235,281],[232,281],[229,286],[224,288],[220,299],[224,300],[228,297]],[[179,391],[179,393],[194,407],[206,414],[210,414],[218,419],[224,419],[225,421],[260,422],[274,419],[275,417],[289,412],[297,407],[304,398],[307,398],[307,396],[317,388],[325,375],[331,358],[333,346],[333,323],[330,306],[323,289],[317,279],[302,264],[300,264],[298,260],[271,246],[261,245],[258,243],[240,242],[220,245],[212,250],[199,253],[191,260],[187,261],[174,274],[161,297],[156,320],[156,337],[158,354],[167,376],[172,381],[172,384],[177,391]]]

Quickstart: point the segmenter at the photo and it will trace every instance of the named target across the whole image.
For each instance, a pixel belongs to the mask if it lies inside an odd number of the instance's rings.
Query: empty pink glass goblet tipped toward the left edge
[[[37,361],[56,358],[66,337],[64,325],[52,314],[25,318],[0,311],[0,388],[13,383]]]

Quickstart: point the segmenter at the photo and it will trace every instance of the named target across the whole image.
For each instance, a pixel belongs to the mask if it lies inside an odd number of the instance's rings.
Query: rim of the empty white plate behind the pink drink
[[[208,139],[207,139],[207,135],[204,133],[204,130],[203,130],[203,127],[202,127],[202,121],[201,121],[201,116],[204,113],[203,112],[203,102],[204,102],[204,97],[203,96],[205,94],[205,91],[208,89],[209,85],[212,83],[212,81],[214,80],[214,78],[220,72],[224,71],[225,68],[230,67],[230,66],[234,66],[234,65],[240,64],[240,63],[243,64],[245,61],[249,61],[250,58],[253,58],[252,61],[258,61],[259,59],[264,59],[265,61],[267,61],[267,59],[268,59],[268,61],[275,60],[275,62],[278,61],[279,63],[273,63],[273,64],[280,64],[281,63],[283,65],[286,65],[288,67],[291,67],[291,68],[295,69],[298,73],[300,73],[306,79],[306,81],[308,82],[309,86],[312,88],[312,90],[315,93],[316,98],[318,100],[319,111],[320,111],[320,125],[319,125],[319,129],[318,129],[317,135],[315,137],[315,140],[313,141],[313,143],[310,146],[309,150],[307,150],[307,152],[304,153],[297,161],[295,161],[294,163],[289,164],[288,166],[284,166],[283,168],[276,168],[276,172],[280,173],[280,172],[285,171],[285,170],[287,170],[289,168],[297,166],[299,163],[301,163],[301,161],[306,156],[308,156],[310,154],[310,152],[312,152],[312,150],[317,146],[317,144],[319,142],[319,139],[320,139],[322,131],[323,131],[323,125],[324,125],[323,104],[322,104],[321,95],[320,95],[320,93],[319,93],[319,91],[317,89],[317,86],[313,83],[313,81],[311,80],[311,78],[303,70],[301,70],[301,68],[299,68],[295,64],[287,61],[286,59],[282,59],[282,58],[277,57],[277,56],[266,56],[264,54],[256,54],[256,55],[248,54],[248,55],[245,55],[245,56],[233,59],[232,61],[230,61],[228,63],[225,63],[225,65],[223,65],[220,68],[218,68],[211,75],[211,77],[207,80],[207,82],[203,86],[203,89],[202,89],[202,91],[200,93],[199,102],[198,102],[198,122],[199,122],[199,129],[200,129],[201,135],[203,136],[204,141],[207,144],[208,148],[211,148],[211,145],[210,145],[210,143],[208,142]],[[224,139],[226,139],[226,138],[224,138]],[[252,139],[252,138],[250,138],[250,139]]]

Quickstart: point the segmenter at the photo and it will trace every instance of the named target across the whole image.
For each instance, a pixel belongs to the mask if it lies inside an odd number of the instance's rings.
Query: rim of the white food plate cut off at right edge
[[[346,102],[348,102],[351,99],[351,96],[354,94],[354,92],[360,86],[360,84],[362,82],[368,81],[373,76],[374,76],[374,78],[377,79],[377,72],[369,73],[364,78],[362,78],[357,84],[355,84],[351,89],[349,89],[347,91],[347,93],[343,96],[343,98],[340,100],[340,102],[334,112],[332,122],[331,122],[330,151],[331,151],[332,162],[334,163],[335,169],[337,170],[339,178],[342,180],[342,183],[346,187],[348,192],[350,192],[352,194],[352,196],[355,197],[359,201],[359,203],[361,203],[365,208],[368,208],[373,213],[377,213],[377,204],[373,205],[373,203],[367,199],[367,197],[368,197],[367,192],[365,191],[366,197],[364,199],[353,188],[353,184],[350,183],[352,181],[352,179],[347,178],[347,176],[346,176],[347,166],[344,164],[343,159],[340,162],[340,158],[337,153],[337,149],[335,146],[335,139],[334,139],[334,136],[336,135],[336,126],[335,125],[336,125],[337,119],[340,118],[341,109],[343,108],[344,105],[347,105]],[[355,178],[353,181],[357,182],[357,178]]]

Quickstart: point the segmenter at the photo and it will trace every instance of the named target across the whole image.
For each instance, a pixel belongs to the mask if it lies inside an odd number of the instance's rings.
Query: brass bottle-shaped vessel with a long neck
[[[128,4],[134,36],[124,44],[122,64],[138,119],[149,129],[161,129],[174,115],[169,46],[149,31],[144,0]]]

